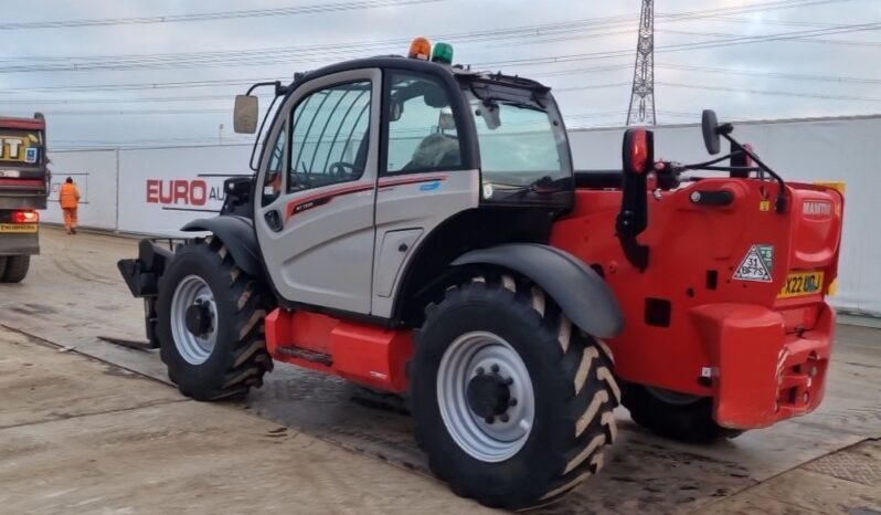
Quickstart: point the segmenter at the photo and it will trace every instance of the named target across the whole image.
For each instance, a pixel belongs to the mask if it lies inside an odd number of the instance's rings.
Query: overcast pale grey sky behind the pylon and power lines
[[[640,3],[30,0],[0,19],[0,114],[44,112],[56,149],[233,143],[244,83],[405,53],[424,34],[452,42],[458,63],[551,85],[570,127],[623,125]],[[328,12],[304,12],[316,7]],[[705,107],[729,119],[881,113],[881,0],[655,8],[658,123],[693,122]],[[216,15],[243,10],[257,12]]]

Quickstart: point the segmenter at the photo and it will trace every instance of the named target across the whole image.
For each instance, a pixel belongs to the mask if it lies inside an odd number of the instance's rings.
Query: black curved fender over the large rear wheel
[[[574,255],[538,243],[507,243],[467,252],[453,265],[490,264],[513,270],[534,281],[573,324],[598,338],[624,329],[617,298],[603,278]]]

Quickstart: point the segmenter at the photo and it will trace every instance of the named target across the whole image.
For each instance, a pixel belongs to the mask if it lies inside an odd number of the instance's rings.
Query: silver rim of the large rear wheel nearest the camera
[[[509,379],[514,406],[488,423],[468,402],[469,381],[498,367]],[[484,462],[500,462],[517,454],[527,442],[535,419],[532,380],[526,364],[511,345],[486,332],[466,333],[446,349],[437,370],[437,402],[447,432],[461,450]]]

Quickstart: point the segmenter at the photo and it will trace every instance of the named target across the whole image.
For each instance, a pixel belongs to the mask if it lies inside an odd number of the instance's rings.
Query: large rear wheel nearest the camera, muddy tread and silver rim
[[[417,441],[456,494],[537,507],[603,466],[619,399],[612,357],[540,288],[511,276],[453,287],[415,347]]]

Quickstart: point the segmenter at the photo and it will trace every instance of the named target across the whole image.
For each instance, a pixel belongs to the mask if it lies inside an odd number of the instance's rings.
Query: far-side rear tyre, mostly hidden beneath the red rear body
[[[708,443],[743,433],[713,420],[713,399],[628,382],[624,407],[630,418],[652,433],[688,443]]]

